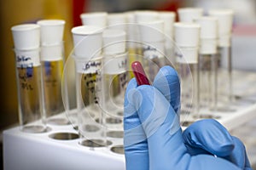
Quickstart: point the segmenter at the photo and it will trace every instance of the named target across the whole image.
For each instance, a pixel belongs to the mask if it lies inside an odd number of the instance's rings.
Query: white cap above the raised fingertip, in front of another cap
[[[160,42],[165,40],[163,20],[142,23],[139,25],[139,31],[143,42]]]

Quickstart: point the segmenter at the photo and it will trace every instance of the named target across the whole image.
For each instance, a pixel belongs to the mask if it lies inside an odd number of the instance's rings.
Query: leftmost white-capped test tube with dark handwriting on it
[[[15,44],[16,81],[20,129],[26,133],[46,130],[42,111],[40,28],[24,24],[11,28]]]

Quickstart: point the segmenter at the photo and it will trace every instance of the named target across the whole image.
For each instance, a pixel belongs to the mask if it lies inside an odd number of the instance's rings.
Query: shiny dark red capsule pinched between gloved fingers
[[[133,74],[136,78],[138,86],[150,85],[150,83],[148,81],[148,77],[143,69],[143,65],[139,61],[134,61],[131,64],[131,68],[132,68]]]

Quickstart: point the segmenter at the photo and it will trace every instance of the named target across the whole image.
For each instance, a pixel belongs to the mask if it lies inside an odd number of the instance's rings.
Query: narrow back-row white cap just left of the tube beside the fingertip
[[[167,36],[173,37],[173,24],[175,22],[176,14],[174,12],[160,12],[159,18],[164,21],[164,31]]]

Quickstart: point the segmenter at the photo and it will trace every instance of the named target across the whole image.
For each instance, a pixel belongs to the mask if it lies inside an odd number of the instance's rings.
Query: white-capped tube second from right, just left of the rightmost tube
[[[204,16],[195,20],[201,26],[199,65],[200,103],[203,108],[214,111],[217,107],[217,18]]]

